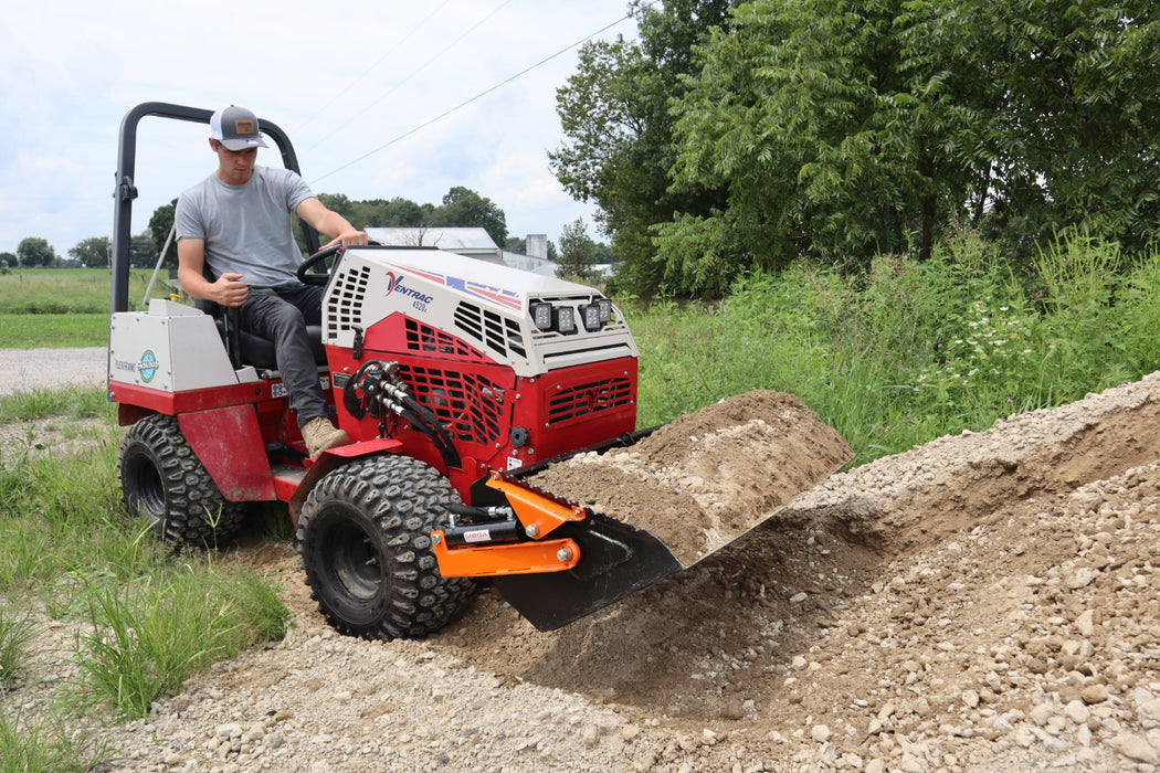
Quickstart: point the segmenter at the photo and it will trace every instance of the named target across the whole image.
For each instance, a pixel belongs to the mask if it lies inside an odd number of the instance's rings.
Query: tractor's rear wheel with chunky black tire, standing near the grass
[[[129,428],[117,473],[125,508],[169,544],[216,547],[241,525],[245,505],[222,496],[173,416],[152,414]]]

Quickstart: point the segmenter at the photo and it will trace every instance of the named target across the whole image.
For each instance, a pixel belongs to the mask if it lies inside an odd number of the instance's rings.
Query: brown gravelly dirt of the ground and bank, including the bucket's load
[[[795,399],[713,408],[552,471],[711,552],[559,630],[485,589],[426,640],[341,637],[290,546],[242,540],[290,634],[158,701],[106,770],[1157,770],[1160,374],[828,477],[848,450]],[[29,694],[67,641],[45,621]]]

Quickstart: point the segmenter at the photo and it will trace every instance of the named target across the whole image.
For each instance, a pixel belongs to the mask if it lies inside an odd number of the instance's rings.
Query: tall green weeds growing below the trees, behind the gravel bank
[[[1114,245],[1075,238],[1024,275],[965,234],[926,262],[746,277],[717,306],[669,304],[635,321],[640,415],[790,392],[839,430],[855,465],[985,429],[1160,366],[1160,256],[1123,267]]]

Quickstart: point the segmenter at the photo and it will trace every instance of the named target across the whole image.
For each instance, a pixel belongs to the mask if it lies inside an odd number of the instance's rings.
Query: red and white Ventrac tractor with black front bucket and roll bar
[[[548,630],[682,568],[648,532],[524,481],[633,439],[637,345],[589,287],[437,249],[319,251],[306,227],[298,277],[325,286],[318,378],[351,439],[317,458],[270,341],[223,308],[130,311],[138,124],[210,115],[151,102],[121,126],[109,396],[129,428],[118,473],[132,513],[171,542],[212,546],[249,503],[285,503],[321,612],[365,637],[438,629],[474,578]],[[282,130],[260,123],[298,170]]]

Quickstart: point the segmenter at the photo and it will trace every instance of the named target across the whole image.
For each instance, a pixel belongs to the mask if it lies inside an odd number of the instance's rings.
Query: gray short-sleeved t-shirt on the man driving
[[[241,185],[227,185],[215,172],[177,198],[177,240],[203,239],[215,276],[240,274],[254,287],[296,283],[302,253],[290,214],[311,196],[290,169],[254,167]]]

